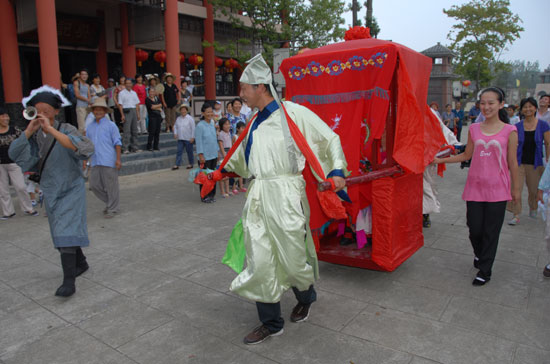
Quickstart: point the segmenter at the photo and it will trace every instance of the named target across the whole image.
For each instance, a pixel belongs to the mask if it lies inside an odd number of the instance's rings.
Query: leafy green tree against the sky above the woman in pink
[[[510,11],[509,0],[471,0],[443,12],[457,20],[448,34],[458,53],[455,72],[475,81],[476,93],[492,79],[502,51],[520,37],[522,20]]]

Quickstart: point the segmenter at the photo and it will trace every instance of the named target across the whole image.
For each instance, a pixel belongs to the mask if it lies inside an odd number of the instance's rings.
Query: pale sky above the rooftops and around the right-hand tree
[[[350,0],[346,0],[351,3]],[[359,3],[363,3],[359,0]],[[447,34],[455,23],[443,13],[452,5],[461,5],[463,0],[373,0],[373,15],[380,26],[379,39],[392,40],[421,52],[440,42],[449,46]],[[550,66],[550,21],[549,0],[510,0],[510,9],[523,20],[520,38],[507,51],[502,52],[502,61],[539,61],[541,71]],[[365,23],[366,7],[358,17]],[[352,23],[352,14],[345,14],[346,28]]]

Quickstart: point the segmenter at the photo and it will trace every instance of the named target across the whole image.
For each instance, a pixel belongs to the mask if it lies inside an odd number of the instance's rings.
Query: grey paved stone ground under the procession
[[[244,196],[199,202],[187,172],[126,176],[112,220],[88,194],[91,269],[69,299],[47,219],[0,221],[0,363],[550,363],[549,260],[540,220],[505,225],[493,280],[473,287],[460,195],[440,180],[425,247],[393,273],[321,263],[310,319],[257,346],[253,303],[220,263]],[[508,217],[507,217],[508,218]],[[285,318],[292,293],[282,302]]]

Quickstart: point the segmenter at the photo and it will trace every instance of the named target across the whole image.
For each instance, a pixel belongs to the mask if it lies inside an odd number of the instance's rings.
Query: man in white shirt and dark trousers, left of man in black
[[[124,125],[124,154],[139,152],[137,146],[137,121],[139,120],[139,98],[134,90],[134,83],[126,79],[124,90],[118,93],[118,109],[120,110],[121,122]],[[131,136],[131,139],[130,139]]]

